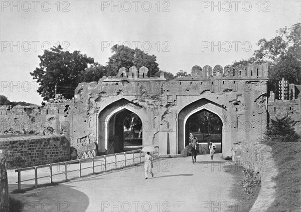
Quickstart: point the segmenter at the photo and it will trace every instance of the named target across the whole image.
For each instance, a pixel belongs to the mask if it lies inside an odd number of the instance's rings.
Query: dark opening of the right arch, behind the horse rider
[[[192,135],[204,148],[208,149],[212,142],[216,145],[215,153],[222,153],[222,127],[223,122],[219,116],[206,109],[192,114],[185,124],[185,146],[189,144]]]

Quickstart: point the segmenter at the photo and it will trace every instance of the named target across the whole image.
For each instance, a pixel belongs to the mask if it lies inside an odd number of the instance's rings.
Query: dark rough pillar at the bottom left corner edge
[[[1,152],[0,152],[1,153]],[[0,155],[0,211],[9,211],[9,185],[5,162]]]

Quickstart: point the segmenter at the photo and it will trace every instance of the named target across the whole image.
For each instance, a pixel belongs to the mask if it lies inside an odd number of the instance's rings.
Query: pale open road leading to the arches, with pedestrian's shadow
[[[225,161],[200,159],[159,158],[146,180],[135,166],[14,196],[27,201],[23,211],[226,211],[236,182]]]

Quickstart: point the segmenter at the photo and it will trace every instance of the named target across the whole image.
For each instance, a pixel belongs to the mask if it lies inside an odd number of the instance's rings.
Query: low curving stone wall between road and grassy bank
[[[234,146],[232,158],[240,162],[244,168],[259,171],[261,189],[250,211],[266,211],[275,198],[276,183],[273,177],[278,174],[272,157],[272,148],[259,141],[244,140]]]

